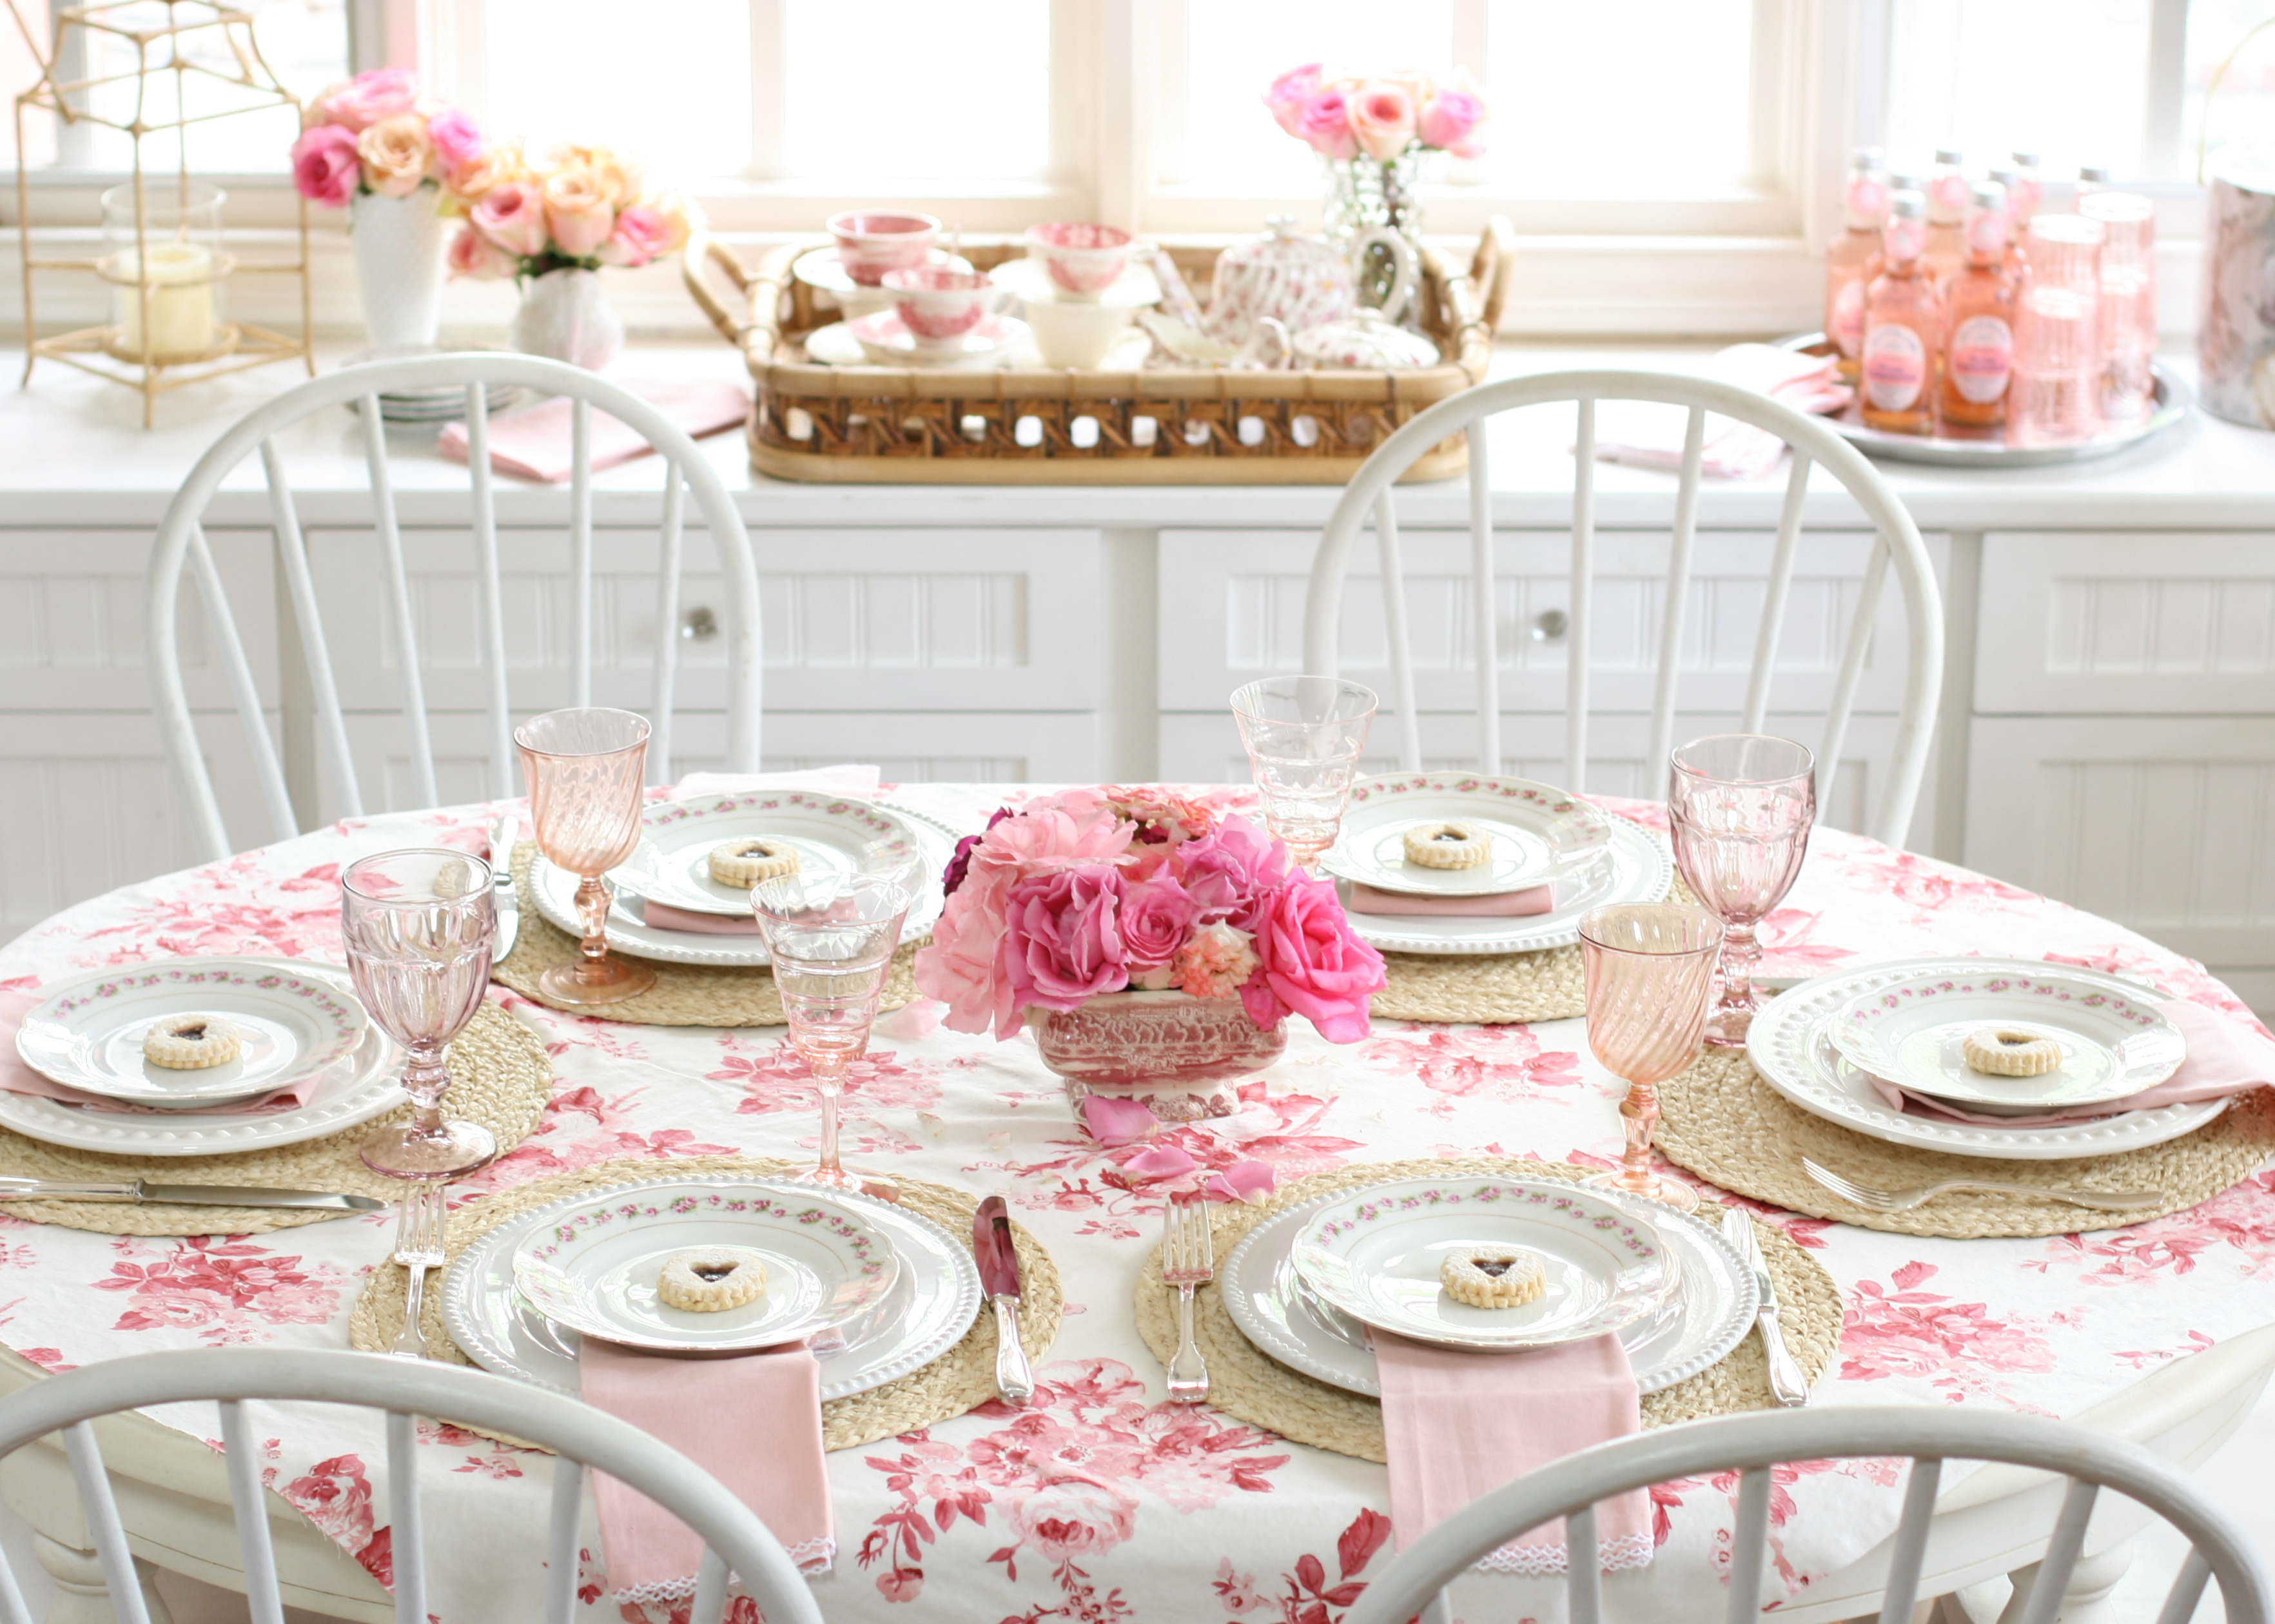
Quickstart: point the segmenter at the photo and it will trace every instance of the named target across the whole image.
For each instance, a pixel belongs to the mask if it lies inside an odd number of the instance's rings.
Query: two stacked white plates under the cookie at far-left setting
[[[212,1014],[232,1060],[168,1069],[143,1058],[155,1026]],[[59,983],[16,1028],[18,1058],[61,1099],[0,1092],[0,1126],[111,1155],[218,1155],[298,1144],[403,1101],[403,1051],[348,971],[289,958],[171,958]],[[296,1105],[273,1105],[296,1089]]]

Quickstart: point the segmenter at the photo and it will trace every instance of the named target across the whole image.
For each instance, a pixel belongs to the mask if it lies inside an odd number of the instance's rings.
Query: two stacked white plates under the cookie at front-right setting
[[[1401,1178],[1288,1208],[1224,1260],[1233,1324],[1281,1365],[1381,1397],[1372,1331],[1511,1353],[1613,1333],[1658,1392],[1729,1353],[1754,1324],[1752,1271],[1711,1226],[1556,1180]],[[1449,1253],[1511,1249],[1545,1290],[1470,1308],[1440,1285]]]

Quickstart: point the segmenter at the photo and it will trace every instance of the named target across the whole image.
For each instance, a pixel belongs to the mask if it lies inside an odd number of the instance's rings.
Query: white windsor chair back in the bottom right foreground
[[[1770,1535],[1772,1469],[1790,1460],[1906,1458],[1904,1515],[1888,1544],[1879,1624],[1909,1624],[1920,1601],[1920,1574],[1929,1524],[1945,1460],[1997,1460],[2068,1478],[2045,1556],[2016,1594],[2002,1624],[2054,1624],[2063,1588],[2086,1547],[2086,1526],[2104,1488],[2164,1517],[2189,1540],[2189,1558],[2166,1597],[2157,1624],[2186,1624],[2202,1599],[2204,1581],[2220,1581],[2227,1624],[2268,1624],[2268,1576],[2243,1528],[2184,1472],[2150,1449],[2043,1415],[1975,1412],[1941,1406],[1863,1406],[1831,1410],[1768,1410],[1722,1415],[1686,1426],[1663,1426],[1529,1472],[1492,1494],[1454,1513],[1372,1581],[1345,1624],[1406,1624],[1422,1615],[1431,1624],[1447,1615],[1440,1592],[1472,1563],[1508,1540],[1556,1517],[1565,1519],[1565,1547],[1597,1547],[1597,1503],[1629,1490],[1740,1472],[1738,1524],[1729,1544],[1729,1624],[1761,1617],[1761,1576]],[[1565,1604],[1570,1624],[1602,1619],[1602,1574],[1597,1563],[1570,1563]],[[1706,1617],[1706,1610],[1699,1610]]]

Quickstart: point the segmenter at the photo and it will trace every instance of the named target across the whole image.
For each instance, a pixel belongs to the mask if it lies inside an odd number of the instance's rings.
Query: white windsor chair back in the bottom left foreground
[[[578,1613],[578,1538],[587,1469],[607,1472],[639,1490],[703,1538],[692,1624],[717,1624],[726,1615],[728,1574],[742,1581],[769,1624],[821,1624],[812,1590],[767,1533],[767,1524],[703,1467],[630,1422],[478,1369],[307,1349],[136,1353],[48,1376],[0,1401],[0,1456],[48,1433],[64,1433],[80,1510],[93,1531],[102,1583],[118,1624],[150,1624],[150,1613],[134,1576],[134,1558],[118,1522],[93,1422],[121,1410],[198,1399],[218,1401],[221,1408],[221,1442],[253,1624],[284,1624],[284,1604],[268,1540],[271,1508],[262,1488],[259,1435],[246,1417],[250,1399],[348,1403],[387,1412],[387,1524],[394,1540],[398,1624],[425,1624],[430,1610],[444,1617],[455,1613],[446,1599],[448,1576],[428,1572],[419,1497],[421,1415],[544,1444],[557,1456],[544,1558],[546,1624],[569,1624]],[[498,1551],[498,1560],[512,1556]],[[535,1558],[535,1551],[530,1556]],[[32,1624],[5,1553],[0,1553],[0,1624]]]

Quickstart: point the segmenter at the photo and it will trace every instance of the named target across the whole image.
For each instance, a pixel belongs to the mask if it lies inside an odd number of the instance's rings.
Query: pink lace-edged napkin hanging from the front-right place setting
[[[1390,1526],[1404,1551],[1436,1524],[1552,1460],[1643,1431],[1636,1372],[1620,1337],[1524,1353],[1461,1353],[1374,1331],[1390,1447]],[[1604,1572],[1652,1560],[1652,1497],[1604,1501],[1595,1515]],[[1565,1572],[1563,1522],[1486,1556],[1502,1574]]]

